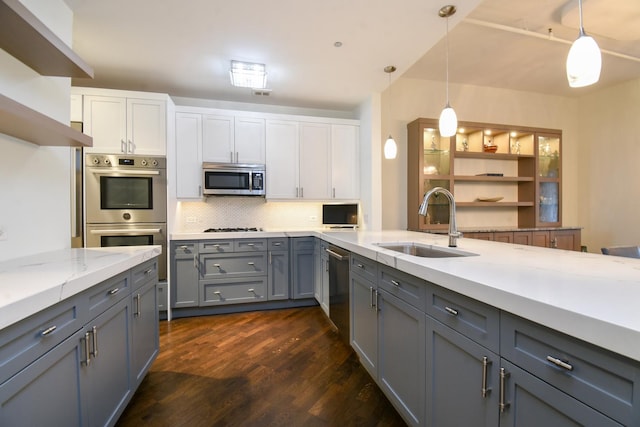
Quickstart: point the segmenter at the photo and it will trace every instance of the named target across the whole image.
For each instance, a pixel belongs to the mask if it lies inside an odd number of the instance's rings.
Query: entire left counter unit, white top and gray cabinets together
[[[0,425],[115,424],[158,354],[160,254],[66,249],[0,263]]]

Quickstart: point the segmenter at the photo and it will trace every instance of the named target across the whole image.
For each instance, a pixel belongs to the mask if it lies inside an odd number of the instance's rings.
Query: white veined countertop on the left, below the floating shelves
[[[62,249],[0,262],[0,329],[161,253],[161,246]]]

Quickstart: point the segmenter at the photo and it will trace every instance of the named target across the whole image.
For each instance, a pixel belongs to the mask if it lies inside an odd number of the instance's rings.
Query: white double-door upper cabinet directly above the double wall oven
[[[125,96],[83,96],[83,131],[90,152],[166,155],[167,102]]]

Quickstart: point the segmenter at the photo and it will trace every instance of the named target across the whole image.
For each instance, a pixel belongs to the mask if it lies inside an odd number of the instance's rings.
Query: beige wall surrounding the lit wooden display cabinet
[[[578,101],[574,99],[470,85],[450,86],[451,105],[458,120],[562,129],[564,161],[562,222],[582,226],[578,216]],[[440,82],[400,78],[384,93],[383,133],[391,132],[398,143],[396,161],[382,168],[382,228],[407,227],[407,124],[416,118],[438,118],[445,104],[445,86]],[[380,148],[380,151],[382,148]],[[458,225],[465,226],[459,215]],[[474,224],[470,224],[474,225]],[[499,224],[494,224],[499,225]]]

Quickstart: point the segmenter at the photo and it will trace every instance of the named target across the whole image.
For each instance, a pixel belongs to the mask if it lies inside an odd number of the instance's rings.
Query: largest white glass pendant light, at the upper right
[[[582,0],[578,0],[580,33],[567,55],[567,80],[571,87],[584,87],[597,83],[602,68],[602,54],[598,43],[584,32]]]

